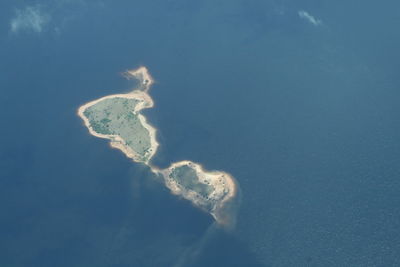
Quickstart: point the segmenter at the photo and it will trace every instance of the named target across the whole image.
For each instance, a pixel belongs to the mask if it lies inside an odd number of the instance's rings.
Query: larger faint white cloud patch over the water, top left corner
[[[24,9],[15,11],[15,16],[11,19],[10,26],[13,33],[20,31],[41,33],[49,21],[50,16],[39,5],[27,6]]]

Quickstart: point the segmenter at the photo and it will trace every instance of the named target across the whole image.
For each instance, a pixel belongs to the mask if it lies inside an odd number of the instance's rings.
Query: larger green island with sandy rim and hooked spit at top
[[[84,104],[78,109],[89,132],[97,137],[111,140],[135,162],[148,163],[156,153],[158,143],[156,130],[147,123],[140,110],[153,107],[147,94],[153,79],[145,67],[127,71],[124,76],[140,81],[139,88],[128,94],[109,95]]]

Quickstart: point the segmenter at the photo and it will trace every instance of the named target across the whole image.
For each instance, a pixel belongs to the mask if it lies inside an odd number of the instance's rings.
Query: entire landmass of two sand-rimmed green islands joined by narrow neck
[[[137,79],[138,87],[127,94],[104,96],[79,107],[78,115],[90,134],[110,140],[111,147],[134,162],[148,165],[173,194],[210,213],[219,225],[232,228],[239,190],[234,177],[222,171],[206,171],[189,160],[173,163],[166,169],[153,166],[150,160],[159,146],[156,129],[140,111],[154,106],[148,94],[154,80],[143,66],[123,75]]]

